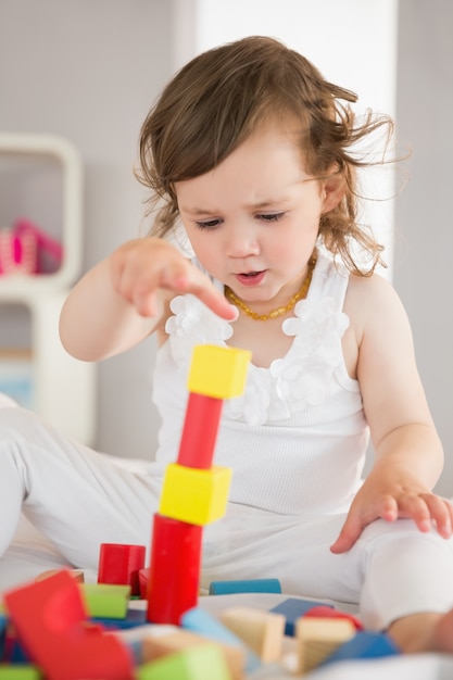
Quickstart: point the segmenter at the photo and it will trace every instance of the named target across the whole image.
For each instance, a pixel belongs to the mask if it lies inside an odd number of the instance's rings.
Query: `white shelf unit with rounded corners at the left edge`
[[[0,133],[0,227],[27,217],[63,247],[61,265],[51,274],[0,275],[0,305],[24,305],[29,312],[33,410],[66,436],[91,444],[96,368],[71,357],[58,332],[62,303],[80,272],[81,214],[77,149],[56,136]],[[7,337],[11,329],[2,330],[0,323],[0,348]]]

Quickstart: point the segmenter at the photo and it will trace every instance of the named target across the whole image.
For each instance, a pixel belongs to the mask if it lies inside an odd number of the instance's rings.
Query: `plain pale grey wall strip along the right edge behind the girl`
[[[453,3],[400,0],[398,123],[412,146],[397,203],[394,285],[411,318],[453,496]]]

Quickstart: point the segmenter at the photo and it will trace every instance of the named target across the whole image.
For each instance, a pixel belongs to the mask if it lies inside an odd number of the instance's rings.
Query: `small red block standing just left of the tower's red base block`
[[[138,572],[144,567],[146,546],[101,543],[98,583],[129,584],[131,594],[140,593]]]

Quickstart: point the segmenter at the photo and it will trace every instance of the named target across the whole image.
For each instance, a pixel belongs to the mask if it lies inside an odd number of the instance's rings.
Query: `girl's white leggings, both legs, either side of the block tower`
[[[1,404],[0,404],[1,405]],[[35,414],[0,408],[0,555],[21,511],[74,566],[97,569],[100,543],[150,545],[162,477],[62,437]],[[202,588],[212,580],[278,578],[285,593],[358,603],[366,626],[453,607],[453,540],[412,520],[373,522],[334,555],[344,515],[300,517],[232,504],[204,528]],[[148,555],[149,557],[149,555]]]

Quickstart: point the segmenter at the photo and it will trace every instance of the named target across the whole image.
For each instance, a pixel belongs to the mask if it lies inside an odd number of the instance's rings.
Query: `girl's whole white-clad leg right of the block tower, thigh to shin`
[[[421,533],[408,519],[380,520],[348,553],[334,555],[343,521],[229,506],[225,520],[205,530],[203,589],[212,580],[274,577],[288,594],[355,603],[375,630],[453,607],[452,540]]]

